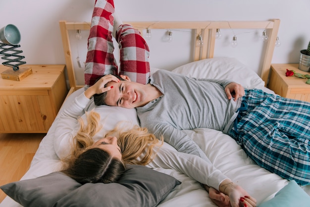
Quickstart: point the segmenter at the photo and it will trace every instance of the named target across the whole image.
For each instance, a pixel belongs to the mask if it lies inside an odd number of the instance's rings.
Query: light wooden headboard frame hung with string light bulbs
[[[134,28],[137,28],[141,34],[143,34],[143,30],[146,28],[195,30],[196,34],[202,35],[203,39],[205,40],[205,44],[203,45],[203,48],[197,47],[197,44],[192,44],[193,47],[195,47],[193,50],[194,61],[213,58],[216,29],[266,29],[268,30],[269,41],[265,47],[260,77],[265,81],[265,83],[267,83],[272,55],[280,25],[280,19],[272,19],[269,21],[149,21],[124,23],[131,24]],[[77,85],[76,83],[68,31],[90,30],[90,25],[91,24],[89,22],[59,21],[71,92],[83,87],[84,85]],[[199,41],[198,38],[196,38],[196,41]]]

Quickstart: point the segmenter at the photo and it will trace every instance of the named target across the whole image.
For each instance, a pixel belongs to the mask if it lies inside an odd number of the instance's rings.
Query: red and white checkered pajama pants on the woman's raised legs
[[[140,32],[131,25],[117,28],[116,41],[120,48],[120,69],[113,51],[113,0],[96,0],[88,38],[85,64],[85,84],[91,86],[104,74],[125,74],[132,81],[147,83],[150,76],[150,50]]]

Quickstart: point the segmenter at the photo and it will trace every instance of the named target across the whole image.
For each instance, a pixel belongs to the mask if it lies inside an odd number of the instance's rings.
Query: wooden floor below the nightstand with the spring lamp
[[[18,181],[46,134],[0,134],[0,186]],[[0,190],[0,202],[5,198]]]

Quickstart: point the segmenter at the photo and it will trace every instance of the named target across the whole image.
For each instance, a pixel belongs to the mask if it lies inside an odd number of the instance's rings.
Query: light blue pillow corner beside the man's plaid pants
[[[310,196],[292,180],[276,193],[274,198],[258,207],[309,207],[309,205]]]

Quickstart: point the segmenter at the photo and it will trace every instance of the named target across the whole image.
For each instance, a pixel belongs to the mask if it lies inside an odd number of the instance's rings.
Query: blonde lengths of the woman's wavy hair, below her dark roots
[[[70,168],[83,152],[91,148],[95,142],[93,137],[102,129],[99,113],[91,111],[86,114],[86,117],[87,124],[84,124],[82,118],[78,118],[80,128],[74,137],[71,155],[63,160],[64,168]],[[119,124],[104,135],[104,137],[110,136],[117,138],[124,164],[147,165],[157,153],[157,151],[153,153],[154,147],[158,146],[159,149],[163,141],[163,138],[160,138],[160,142],[155,135],[148,132],[147,128],[141,128],[137,125],[123,127]]]

